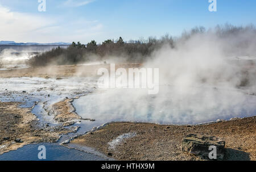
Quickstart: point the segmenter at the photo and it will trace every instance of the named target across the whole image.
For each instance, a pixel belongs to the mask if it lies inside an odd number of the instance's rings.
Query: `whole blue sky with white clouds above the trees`
[[[40,2],[39,2],[40,1]],[[46,1],[46,11],[38,6]],[[255,0],[0,0],[0,41],[88,43],[179,36],[196,26],[256,25]],[[215,1],[215,0],[214,0]]]

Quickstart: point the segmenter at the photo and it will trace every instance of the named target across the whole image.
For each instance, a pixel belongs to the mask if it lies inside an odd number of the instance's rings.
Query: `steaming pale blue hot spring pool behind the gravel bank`
[[[108,90],[81,97],[73,105],[82,118],[105,122],[198,124],[256,114],[256,97],[242,90],[201,86],[184,95],[176,89],[160,86],[157,95],[148,95],[147,90]]]

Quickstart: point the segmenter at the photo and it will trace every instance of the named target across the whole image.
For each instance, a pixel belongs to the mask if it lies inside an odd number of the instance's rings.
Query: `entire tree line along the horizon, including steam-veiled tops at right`
[[[255,27],[250,25],[246,27],[236,27],[231,24],[224,26],[216,26],[214,28],[214,35],[218,37],[236,37],[238,33],[250,31],[256,35]],[[148,37],[147,40],[143,38],[140,40],[123,41],[122,37],[118,40],[105,40],[101,44],[97,44],[95,40],[88,44],[81,44],[80,42],[73,42],[68,48],[52,49],[32,57],[28,61],[31,66],[47,66],[47,65],[73,65],[89,61],[104,61],[110,57],[125,58],[127,62],[143,62],[150,58],[152,52],[168,45],[171,48],[176,48],[177,43],[183,43],[191,36],[196,34],[212,33],[204,27],[195,27],[189,32],[183,32],[180,37],[172,37],[169,35],[162,36],[160,39],[155,37]],[[209,34],[210,35],[210,34]],[[239,43],[241,44],[241,43]],[[196,46],[196,45],[195,45]]]

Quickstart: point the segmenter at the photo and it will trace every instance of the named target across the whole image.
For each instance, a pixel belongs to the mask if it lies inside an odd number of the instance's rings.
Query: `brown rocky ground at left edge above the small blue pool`
[[[75,132],[76,127],[55,127],[40,124],[31,108],[19,108],[19,103],[0,102],[0,154],[38,142],[56,142],[60,135]]]

